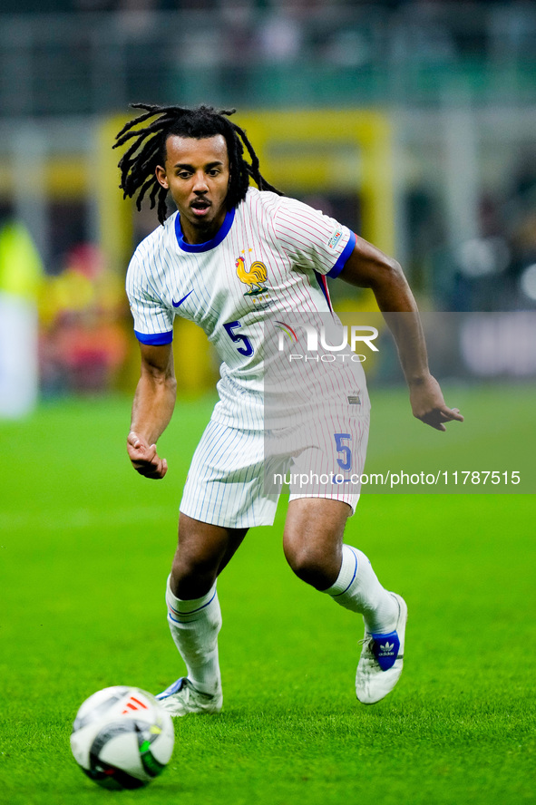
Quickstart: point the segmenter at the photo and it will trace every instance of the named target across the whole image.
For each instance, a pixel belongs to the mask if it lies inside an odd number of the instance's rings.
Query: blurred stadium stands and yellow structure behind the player
[[[0,24],[0,417],[135,383],[124,274],[157,220],[111,150],[135,101],[236,106],[268,179],[397,257],[424,310],[488,314],[449,372],[533,378],[535,4],[5,0]],[[177,326],[180,392],[212,388]]]

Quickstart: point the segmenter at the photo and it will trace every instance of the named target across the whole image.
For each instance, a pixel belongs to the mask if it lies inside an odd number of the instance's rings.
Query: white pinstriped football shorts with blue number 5
[[[314,423],[248,431],[210,420],[194,453],[180,511],[232,529],[271,526],[282,488],[290,500],[328,498],[352,514],[365,465],[369,416],[326,412]]]

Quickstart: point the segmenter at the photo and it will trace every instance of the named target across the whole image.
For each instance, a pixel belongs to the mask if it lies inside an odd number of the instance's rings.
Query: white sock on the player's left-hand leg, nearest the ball
[[[221,687],[218,661],[218,633],[221,628],[216,583],[206,596],[183,601],[166,589],[168,623],[180,656],[186,663],[191,684],[201,693],[215,693]]]

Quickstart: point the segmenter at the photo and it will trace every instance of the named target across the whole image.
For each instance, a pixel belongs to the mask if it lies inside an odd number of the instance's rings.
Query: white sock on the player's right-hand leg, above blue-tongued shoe
[[[385,635],[396,626],[395,598],[379,583],[363,551],[343,545],[343,561],[334,585],[325,590],[337,604],[360,612],[367,632]]]

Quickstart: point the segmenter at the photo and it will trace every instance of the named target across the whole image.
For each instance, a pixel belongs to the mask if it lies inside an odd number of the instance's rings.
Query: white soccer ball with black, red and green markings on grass
[[[71,749],[82,771],[102,788],[137,789],[161,774],[174,740],[171,716],[151,693],[117,685],[82,704]]]

